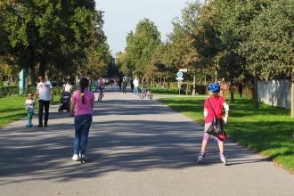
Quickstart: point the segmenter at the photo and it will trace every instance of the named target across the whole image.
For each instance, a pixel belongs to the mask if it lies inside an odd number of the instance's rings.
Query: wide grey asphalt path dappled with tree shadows
[[[229,140],[227,166],[214,140],[197,164],[201,125],[156,100],[123,95],[118,86],[94,104],[80,164],[71,160],[74,120],[58,109],[51,106],[49,127],[26,127],[22,118],[0,129],[1,196],[294,195],[293,175]]]

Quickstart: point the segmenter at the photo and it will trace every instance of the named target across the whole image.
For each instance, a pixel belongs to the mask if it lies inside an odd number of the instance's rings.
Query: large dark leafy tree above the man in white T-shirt
[[[37,64],[44,74],[53,54],[63,52],[65,45],[77,49],[90,44],[94,0],[24,0],[6,4],[4,12],[9,52],[18,57],[20,67],[30,69],[33,85]]]

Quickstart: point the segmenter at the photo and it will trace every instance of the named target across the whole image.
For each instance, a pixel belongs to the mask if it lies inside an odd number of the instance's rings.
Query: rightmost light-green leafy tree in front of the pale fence
[[[262,6],[261,9],[248,27],[249,39],[241,44],[239,53],[246,58],[247,69],[256,78],[294,77],[294,4],[291,1],[271,1],[268,7]],[[255,92],[258,108],[257,90]],[[292,102],[293,94],[292,83]],[[293,104],[291,117],[294,117]]]

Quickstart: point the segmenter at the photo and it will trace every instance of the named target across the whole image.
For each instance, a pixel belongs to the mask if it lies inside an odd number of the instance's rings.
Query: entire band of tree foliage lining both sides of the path
[[[292,0],[186,3],[182,16],[171,20],[167,40],[144,18],[127,34],[125,52],[116,59],[102,30],[103,12],[94,7],[94,0],[2,1],[2,73],[11,73],[7,64],[30,69],[32,78],[46,71],[175,79],[181,68],[190,70],[189,78],[197,74],[204,85],[219,78],[232,84],[294,78]]]

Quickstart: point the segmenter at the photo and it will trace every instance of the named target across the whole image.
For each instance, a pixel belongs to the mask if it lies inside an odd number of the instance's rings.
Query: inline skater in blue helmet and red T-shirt
[[[229,105],[225,102],[225,98],[219,95],[220,86],[218,84],[210,84],[208,85],[208,91],[210,96],[204,102],[203,114],[205,117],[205,126],[204,126],[204,135],[202,137],[201,151],[198,156],[198,163],[201,163],[206,155],[206,148],[208,146],[208,141],[210,139],[210,135],[206,133],[206,131],[208,130],[208,127],[210,127],[213,121],[213,118],[215,117],[215,113],[216,113],[216,118],[222,118],[223,107],[224,107],[225,108],[224,122],[226,123],[229,118]],[[226,165],[227,160],[225,158],[224,141],[216,138],[216,142],[218,143],[218,148],[219,148],[219,158]]]

